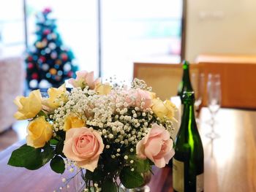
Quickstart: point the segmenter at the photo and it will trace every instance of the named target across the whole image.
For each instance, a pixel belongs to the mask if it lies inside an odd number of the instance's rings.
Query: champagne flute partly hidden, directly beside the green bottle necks
[[[203,91],[205,85],[205,75],[203,73],[192,73],[192,87],[195,91],[195,115],[198,119],[201,104],[203,101]]]

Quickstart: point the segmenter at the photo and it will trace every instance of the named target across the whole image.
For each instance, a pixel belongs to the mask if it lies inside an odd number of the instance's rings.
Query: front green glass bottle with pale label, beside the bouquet
[[[194,114],[194,92],[184,92],[181,98],[184,112],[178,130],[173,156],[173,190],[203,191],[203,145]]]

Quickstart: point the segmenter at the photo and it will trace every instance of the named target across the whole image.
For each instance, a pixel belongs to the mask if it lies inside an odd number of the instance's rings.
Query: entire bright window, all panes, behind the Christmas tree
[[[181,60],[181,0],[9,0],[0,4],[0,34],[12,53],[24,51],[26,39],[33,45],[35,14],[50,7],[64,45],[75,53],[80,69],[94,71],[96,76],[116,74],[118,79],[132,80],[134,61]]]

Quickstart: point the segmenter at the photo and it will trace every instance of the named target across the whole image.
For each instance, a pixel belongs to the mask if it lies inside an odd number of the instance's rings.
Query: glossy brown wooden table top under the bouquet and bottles
[[[256,111],[221,109],[216,119],[219,138],[214,140],[205,137],[211,131],[207,108],[201,110],[197,123],[204,147],[205,191],[256,191]],[[36,171],[7,165],[12,150],[20,145],[18,142],[0,153],[0,191],[58,189],[63,176],[52,172],[48,164]],[[171,169],[154,167],[149,186],[152,192],[173,191]]]

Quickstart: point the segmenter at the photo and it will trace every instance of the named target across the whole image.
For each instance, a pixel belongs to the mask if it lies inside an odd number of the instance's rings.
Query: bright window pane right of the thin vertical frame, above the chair
[[[134,61],[181,60],[181,0],[102,1],[102,76],[132,80]]]

